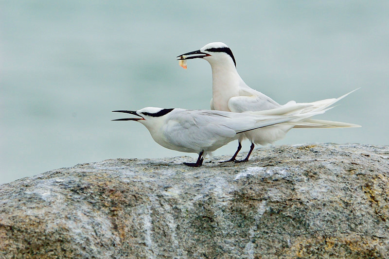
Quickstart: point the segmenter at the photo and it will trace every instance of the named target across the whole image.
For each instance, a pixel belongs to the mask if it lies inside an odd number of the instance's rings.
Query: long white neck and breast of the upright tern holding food
[[[234,64],[211,64],[212,67],[212,99],[213,107],[219,111],[230,111],[228,101],[233,96],[239,96],[242,78]]]

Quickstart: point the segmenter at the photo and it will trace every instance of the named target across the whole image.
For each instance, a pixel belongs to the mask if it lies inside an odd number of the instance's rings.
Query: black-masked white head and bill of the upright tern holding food
[[[230,48],[223,42],[212,42],[198,51],[188,52],[177,56],[177,60],[203,58],[212,65],[231,65],[236,68],[234,55]]]

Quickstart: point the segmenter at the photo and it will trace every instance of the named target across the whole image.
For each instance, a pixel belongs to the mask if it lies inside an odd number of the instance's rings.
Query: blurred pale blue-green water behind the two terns
[[[0,183],[109,158],[189,155],[111,111],[209,109],[210,65],[189,60],[185,70],[176,56],[214,41],[229,45],[248,86],[280,104],[361,87],[317,119],[362,128],[295,129],[275,145],[388,145],[388,14],[385,0],[3,0]]]

